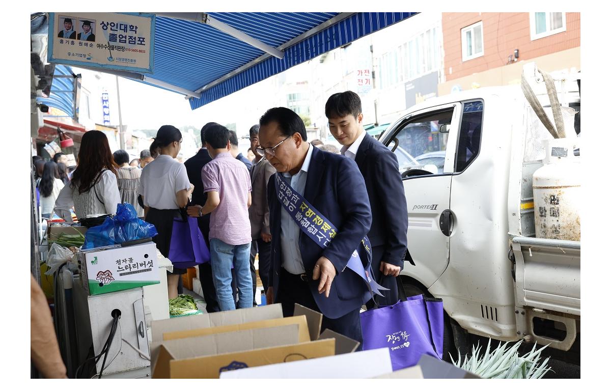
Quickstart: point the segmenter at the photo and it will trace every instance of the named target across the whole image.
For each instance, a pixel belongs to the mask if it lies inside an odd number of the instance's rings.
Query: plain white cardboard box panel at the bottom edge
[[[387,348],[221,373],[221,379],[368,379],[392,371]]]

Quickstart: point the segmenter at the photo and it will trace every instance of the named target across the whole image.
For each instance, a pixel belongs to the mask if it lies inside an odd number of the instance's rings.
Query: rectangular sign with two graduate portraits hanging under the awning
[[[152,13],[49,12],[49,62],[153,72]]]

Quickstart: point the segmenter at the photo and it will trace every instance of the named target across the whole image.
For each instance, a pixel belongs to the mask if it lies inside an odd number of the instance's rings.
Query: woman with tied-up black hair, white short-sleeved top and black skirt
[[[142,169],[140,177],[139,193],[144,203],[144,219],[157,228],[158,235],[153,236],[153,241],[166,258],[170,252],[174,219],[181,217],[180,208],[187,205],[193,192],[185,165],[175,160],[182,142],[180,130],[172,125],[161,126],[150,146],[151,154],[158,151],[159,156]],[[169,299],[178,296],[178,280],[180,274],[185,273],[186,269],[179,268],[168,272]]]

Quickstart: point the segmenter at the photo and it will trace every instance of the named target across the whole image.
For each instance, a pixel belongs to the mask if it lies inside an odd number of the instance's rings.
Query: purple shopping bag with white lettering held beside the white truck
[[[413,367],[420,356],[442,359],[444,304],[441,299],[412,296],[394,305],[360,314],[363,350],[389,348],[392,370]]]

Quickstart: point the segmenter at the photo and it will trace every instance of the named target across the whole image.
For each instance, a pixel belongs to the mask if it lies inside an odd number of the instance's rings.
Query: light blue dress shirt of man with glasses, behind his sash
[[[304,164],[301,170],[295,175],[283,172],[285,178],[290,181],[291,188],[295,189],[299,194],[304,195],[305,181],[307,180],[307,170],[310,167],[312,159],[312,151],[314,146],[310,144],[305,155]],[[280,173],[279,173],[280,174]],[[297,225],[293,217],[280,205],[280,250],[282,251],[282,267],[291,274],[305,273],[304,263],[301,259],[301,250],[299,249],[299,233],[301,228]]]

